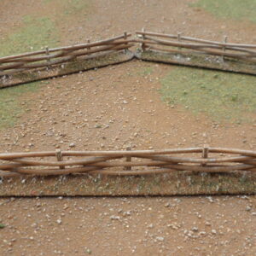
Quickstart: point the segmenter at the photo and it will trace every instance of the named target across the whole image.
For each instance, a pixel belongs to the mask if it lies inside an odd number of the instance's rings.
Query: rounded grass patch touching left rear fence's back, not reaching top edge
[[[18,31],[0,40],[0,56],[34,51],[45,46],[55,47],[58,44],[58,38],[55,25],[49,18],[25,16],[23,25]]]

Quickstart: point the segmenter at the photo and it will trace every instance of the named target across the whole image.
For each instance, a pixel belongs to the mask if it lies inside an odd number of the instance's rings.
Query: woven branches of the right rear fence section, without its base
[[[228,44],[227,37],[224,37],[224,42],[215,42],[184,37],[181,33],[172,35],[144,30],[136,33],[138,35],[136,42],[142,44],[143,50],[152,49],[175,54],[217,55],[256,63],[256,44]]]

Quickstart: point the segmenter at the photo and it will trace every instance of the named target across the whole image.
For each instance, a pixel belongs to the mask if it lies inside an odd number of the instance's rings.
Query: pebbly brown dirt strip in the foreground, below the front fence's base
[[[255,255],[255,197],[2,199],[1,255]]]

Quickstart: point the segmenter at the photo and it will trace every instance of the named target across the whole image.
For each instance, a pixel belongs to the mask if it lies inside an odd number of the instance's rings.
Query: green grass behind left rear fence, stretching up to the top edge
[[[44,0],[47,5],[53,0]],[[60,45],[59,25],[70,17],[88,15],[88,0],[55,0],[55,15],[26,15],[22,24],[0,40],[0,56],[15,55],[38,49],[54,48]]]

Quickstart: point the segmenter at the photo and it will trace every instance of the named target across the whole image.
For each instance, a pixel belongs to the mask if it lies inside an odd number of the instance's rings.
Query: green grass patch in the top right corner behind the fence
[[[220,18],[256,22],[256,0],[199,0],[189,5],[206,9]]]

